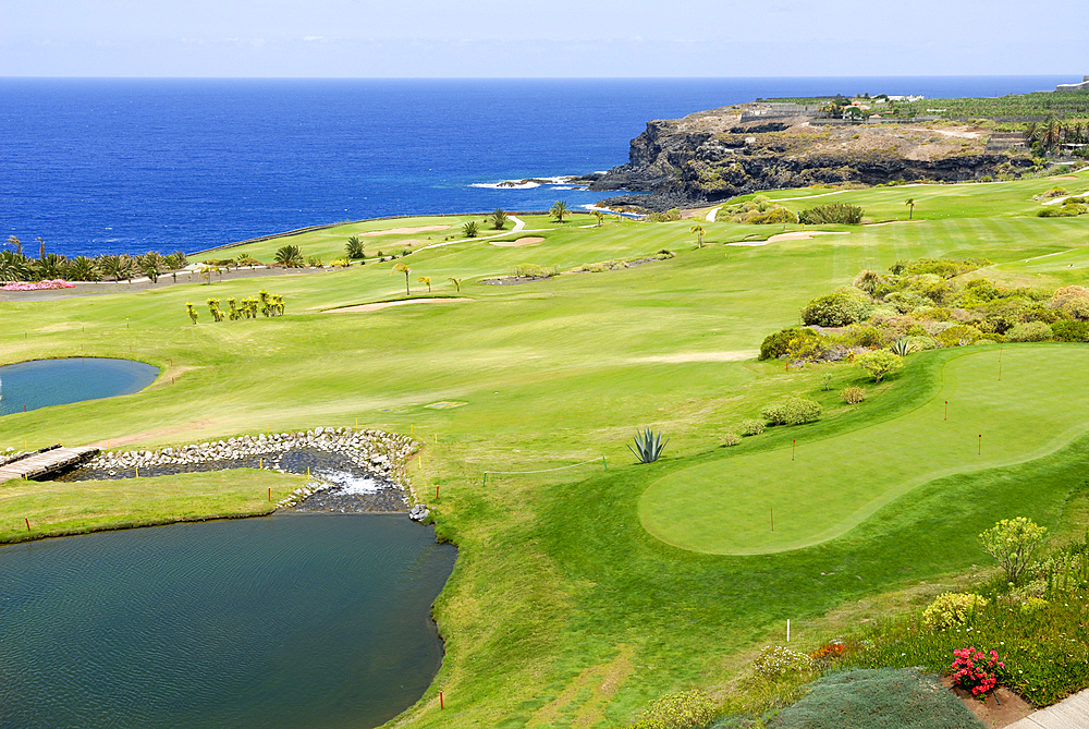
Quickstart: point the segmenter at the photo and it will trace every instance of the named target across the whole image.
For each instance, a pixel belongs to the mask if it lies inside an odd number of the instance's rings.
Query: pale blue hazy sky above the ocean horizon
[[[0,76],[1089,73],[1089,3],[0,0]]]

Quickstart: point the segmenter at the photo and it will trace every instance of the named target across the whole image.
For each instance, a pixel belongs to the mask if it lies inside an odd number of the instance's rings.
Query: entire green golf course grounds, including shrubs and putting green
[[[1084,195],[1087,173],[1070,177],[1062,185]],[[825,669],[950,672],[953,651],[968,647],[1000,651],[1015,673],[1002,680],[1043,704],[1089,685],[1087,658],[1068,642],[1086,643],[1074,547],[1089,523],[1087,403],[1069,382],[1089,350],[1068,340],[1000,350],[994,337],[1008,342],[1032,323],[1055,339],[1089,328],[1075,288],[1089,269],[1085,218],[1037,215],[1047,201],[1033,197],[1056,184],[918,185],[920,218],[909,224],[896,187],[774,191],[767,202],[787,209],[834,194],[862,208],[864,222],[885,224],[769,229],[708,222],[705,208],[702,245],[692,220],[583,228],[525,216],[527,233],[547,243],[522,248],[453,238],[426,247],[429,235],[456,236],[467,216],[348,223],[229,253],[268,260],[286,243],[332,259],[352,235],[387,252],[411,239],[412,268],[376,259],[280,277],[291,312],[246,326],[193,327],[184,313],[186,302],[252,296],[246,280],[90,299],[12,294],[2,302],[4,363],[85,352],[162,374],[134,396],[4,416],[0,447],[125,438],[156,448],[356,418],[415,433],[425,458],[412,484],[461,556],[435,608],[443,666],[397,719],[404,726],[620,727],[674,709],[703,721],[708,701],[714,714],[755,719]],[[414,232],[388,232],[397,229]],[[796,235],[772,240],[783,229]],[[568,272],[610,260],[652,263]],[[411,294],[411,270],[474,302],[328,313]],[[549,276],[480,284],[518,270]],[[799,312],[841,287],[851,291],[812,311],[853,318],[833,327],[843,331],[797,326]],[[994,343],[969,344],[969,329],[986,335],[974,342]],[[927,345],[894,353],[903,338]],[[840,345],[903,366],[873,381],[848,357],[780,357]],[[441,402],[465,404],[428,406]],[[768,405],[781,425],[762,416]],[[669,434],[668,450],[635,463],[636,427]],[[0,536],[25,533],[26,513],[34,528],[69,528],[50,509],[83,514],[78,528],[245,513],[246,499],[259,512],[268,486],[297,485],[237,473],[216,488],[196,487],[200,474],[90,490],[12,482],[0,487],[10,530]],[[236,496],[221,498],[216,489],[231,485]],[[109,488],[161,488],[186,508],[111,500]],[[139,519],[130,515],[137,508]],[[1021,517],[1047,538],[1011,588],[978,535]],[[940,595],[969,592],[987,600],[968,598],[978,603],[970,643],[956,628],[921,624]],[[835,639],[846,647],[832,647]],[[1062,670],[1049,664],[1060,647]]]

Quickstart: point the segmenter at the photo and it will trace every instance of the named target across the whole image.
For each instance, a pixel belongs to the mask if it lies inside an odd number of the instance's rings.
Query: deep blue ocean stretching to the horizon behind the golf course
[[[0,78],[0,240],[187,253],[378,216],[607,197],[506,180],[605,170],[651,119],[757,97],[999,96],[1067,76],[653,80]]]

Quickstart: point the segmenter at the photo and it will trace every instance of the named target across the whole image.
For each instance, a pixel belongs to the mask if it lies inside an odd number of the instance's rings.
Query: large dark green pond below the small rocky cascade
[[[378,726],[439,669],[455,557],[404,514],[2,547],[0,726]]]

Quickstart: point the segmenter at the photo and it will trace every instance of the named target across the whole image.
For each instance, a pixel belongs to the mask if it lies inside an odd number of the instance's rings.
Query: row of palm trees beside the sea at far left
[[[0,282],[41,281],[64,279],[68,281],[101,281],[103,278],[132,280],[135,276],[147,276],[157,280],[163,271],[185,267],[185,254],[181,251],[162,255],[148,251],[143,255],[103,254],[100,256],[76,256],[69,258],[57,253],[46,253],[45,242],[38,239],[39,257],[32,258],[23,253],[23,244],[12,235],[7,248],[0,251]]]

